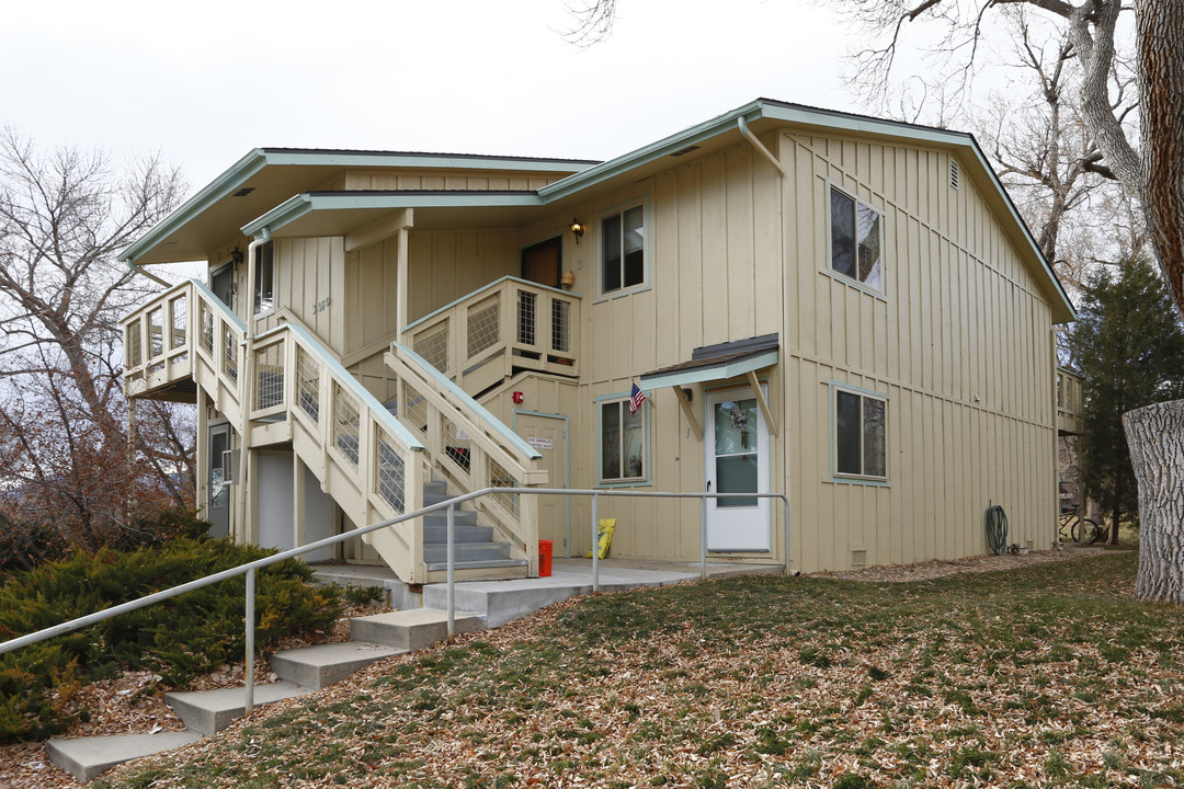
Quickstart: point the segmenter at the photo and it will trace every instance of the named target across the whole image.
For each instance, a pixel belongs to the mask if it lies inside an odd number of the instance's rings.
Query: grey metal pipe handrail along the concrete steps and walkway
[[[353,539],[361,535],[368,535],[372,531],[378,531],[379,529],[386,529],[388,526],[397,525],[404,520],[410,520],[412,518],[419,518],[429,512],[436,512],[438,510],[448,510],[448,634],[452,638],[456,634],[456,551],[455,551],[455,519],[456,519],[456,507],[465,502],[480,498],[482,496],[490,494],[507,494],[516,493],[523,496],[591,496],[592,497],[592,593],[598,594],[600,591],[600,551],[598,550],[598,537],[599,537],[599,499],[601,496],[607,497],[630,497],[630,498],[697,498],[700,499],[700,580],[707,578],[707,499],[709,498],[735,498],[738,494],[732,493],[667,493],[667,492],[650,492],[650,491],[629,491],[629,490],[581,490],[581,489],[566,489],[566,487],[483,487],[478,491],[471,493],[464,493],[455,498],[440,502],[438,504],[432,504],[431,506],[425,506],[414,512],[401,515],[398,518],[391,518],[390,520],[382,520],[380,523],[374,523],[361,529],[354,529],[340,535],[334,535],[333,537],[326,537],[324,539],[318,539],[315,543],[309,543],[308,545],[301,545],[298,548],[291,548],[285,551],[275,554],[274,556],[266,556],[253,562],[247,562],[246,564],[239,564],[229,570],[223,570],[221,573],[214,573],[213,575],[207,575],[205,577],[198,578],[197,581],[189,581],[188,583],[182,583],[176,587],[170,587],[161,591],[153,593],[144,597],[139,597],[136,600],[130,600],[126,603],[120,603],[118,606],[112,606],[111,608],[105,608],[101,612],[94,614],[88,614],[85,616],[79,616],[72,619],[67,622],[62,622],[60,625],[54,625],[36,633],[30,633],[27,635],[21,635],[15,639],[11,639],[0,644],[0,655],[7,654],[9,652],[15,652],[33,644],[45,641],[47,639],[56,638],[58,635],[65,635],[67,633],[73,633],[84,627],[91,625],[97,625],[98,622],[105,621],[120,614],[126,614],[128,612],[139,610],[141,608],[147,608],[159,602],[170,600],[179,595],[184,595],[187,591],[194,591],[221,581],[227,581],[230,578],[238,577],[240,575],[246,576],[246,601],[245,601],[245,636],[246,636],[246,665],[245,665],[245,712],[250,713],[255,709],[255,571],[271,564],[277,564],[289,558],[308,554],[310,551],[320,550],[321,548],[327,548],[329,545],[335,545],[337,543],[345,542],[347,539]],[[745,498],[777,498],[781,500],[784,510],[784,522],[785,522],[785,575],[791,575],[791,551],[790,551],[790,497],[785,493],[744,493]]]

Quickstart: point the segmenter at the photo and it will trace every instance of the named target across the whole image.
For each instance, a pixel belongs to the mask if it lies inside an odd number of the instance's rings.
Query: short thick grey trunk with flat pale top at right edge
[[[1184,400],[1122,414],[1139,480],[1134,596],[1184,603]]]

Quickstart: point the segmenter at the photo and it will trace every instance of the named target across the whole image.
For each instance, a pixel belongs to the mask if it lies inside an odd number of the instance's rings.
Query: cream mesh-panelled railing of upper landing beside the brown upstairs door
[[[515,368],[575,376],[579,310],[579,296],[503,277],[406,326],[404,344],[465,392]]]

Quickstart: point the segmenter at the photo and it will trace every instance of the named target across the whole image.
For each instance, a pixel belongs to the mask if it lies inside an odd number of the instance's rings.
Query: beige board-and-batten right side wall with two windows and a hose
[[[794,564],[806,571],[987,551],[1055,538],[1051,310],[951,154],[786,134],[791,174],[783,335]],[[829,273],[829,186],[883,216],[884,293]],[[831,382],[888,401],[888,484],[835,483]],[[862,552],[862,554],[861,554]]]

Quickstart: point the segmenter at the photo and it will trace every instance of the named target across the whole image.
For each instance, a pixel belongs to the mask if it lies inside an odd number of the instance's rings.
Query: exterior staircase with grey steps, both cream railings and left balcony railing
[[[123,325],[129,397],[195,400],[204,393],[233,426],[244,461],[253,450],[290,445],[355,524],[423,509],[426,479],[459,491],[547,483],[536,451],[398,343],[385,354],[395,407],[380,403],[295,318],[249,337],[247,324],[197,280],[159,295]],[[256,487],[250,479],[244,485],[244,519],[256,511]],[[468,506],[475,513],[459,516],[459,580],[536,574],[535,497],[485,496]],[[408,519],[362,539],[404,582],[443,581],[445,518],[439,512]],[[236,531],[251,532],[246,525]]]

